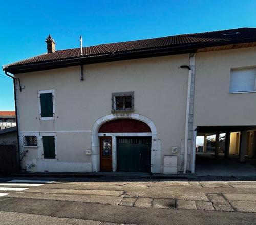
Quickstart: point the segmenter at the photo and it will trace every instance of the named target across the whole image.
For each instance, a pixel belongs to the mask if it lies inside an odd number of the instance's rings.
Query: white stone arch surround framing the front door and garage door
[[[101,126],[109,121],[119,121],[120,119],[134,119],[144,122],[150,127],[151,132],[141,133],[100,133]],[[103,126],[102,126],[103,129]],[[106,130],[104,130],[106,131]],[[143,131],[143,130],[142,130]],[[159,173],[161,171],[161,140],[158,139],[157,130],[154,122],[141,114],[137,113],[115,113],[99,118],[91,129],[92,142],[92,171],[100,171],[100,137],[112,138],[112,171],[117,170],[117,137],[148,137],[151,138],[151,172]],[[130,141],[131,142],[131,141]]]

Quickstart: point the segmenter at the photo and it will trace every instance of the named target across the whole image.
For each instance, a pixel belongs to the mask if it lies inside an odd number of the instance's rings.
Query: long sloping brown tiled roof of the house
[[[153,39],[127,41],[110,44],[100,44],[83,48],[83,56],[80,55],[80,48],[58,50],[54,53],[46,53],[22,61],[11,63],[3,69],[12,72],[12,69],[29,68],[34,65],[47,65],[52,62],[58,62],[70,59],[86,60],[102,56],[113,57],[115,54],[132,55],[138,52],[150,52],[152,50],[176,51],[179,48],[191,49],[193,47],[200,49],[204,47],[217,46],[218,44],[246,43],[256,42],[256,28],[237,28],[222,31],[212,31],[195,34],[182,34],[176,36],[167,36]],[[61,67],[61,66],[58,66]]]

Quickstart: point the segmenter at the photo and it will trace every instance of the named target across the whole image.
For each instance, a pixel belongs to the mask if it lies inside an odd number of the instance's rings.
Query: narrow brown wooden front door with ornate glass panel
[[[100,137],[100,171],[112,171],[112,137]]]

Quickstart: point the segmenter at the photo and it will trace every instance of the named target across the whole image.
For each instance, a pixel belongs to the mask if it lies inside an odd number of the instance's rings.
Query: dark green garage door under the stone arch
[[[117,170],[150,172],[151,137],[117,137]]]

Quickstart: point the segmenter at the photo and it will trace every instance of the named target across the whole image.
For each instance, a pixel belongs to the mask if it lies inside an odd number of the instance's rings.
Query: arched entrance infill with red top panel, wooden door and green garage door
[[[134,119],[111,120],[99,128],[99,136],[100,171],[113,171],[113,158],[114,170],[151,171],[151,129],[146,123]],[[113,143],[116,143],[114,148]]]

